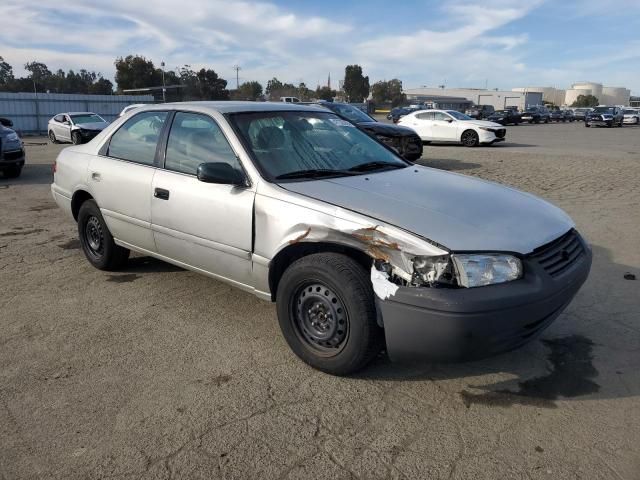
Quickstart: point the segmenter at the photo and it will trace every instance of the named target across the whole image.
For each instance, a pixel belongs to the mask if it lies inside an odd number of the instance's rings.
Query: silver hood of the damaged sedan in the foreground
[[[419,165],[281,186],[452,251],[527,254],[574,226],[562,210],[531,194]]]

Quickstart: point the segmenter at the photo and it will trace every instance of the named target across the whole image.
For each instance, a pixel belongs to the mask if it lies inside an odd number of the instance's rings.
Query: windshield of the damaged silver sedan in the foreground
[[[408,163],[332,113],[245,112],[229,115],[269,180],[356,175]]]

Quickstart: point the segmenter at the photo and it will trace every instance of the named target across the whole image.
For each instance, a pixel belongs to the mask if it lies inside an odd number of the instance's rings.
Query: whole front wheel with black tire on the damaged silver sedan
[[[296,260],[278,284],[276,304],[289,347],[318,370],[351,374],[382,348],[369,275],[346,255],[315,253]]]

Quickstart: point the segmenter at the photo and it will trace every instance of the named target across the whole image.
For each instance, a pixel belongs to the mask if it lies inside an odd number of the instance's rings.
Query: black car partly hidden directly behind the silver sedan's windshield
[[[395,149],[403,158],[415,162],[422,156],[422,140],[410,128],[378,122],[359,108],[348,103],[321,102],[320,105],[353,123],[360,130],[375,137],[379,142]]]

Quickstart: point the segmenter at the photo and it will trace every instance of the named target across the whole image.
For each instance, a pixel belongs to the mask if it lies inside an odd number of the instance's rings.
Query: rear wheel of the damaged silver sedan
[[[89,263],[99,270],[119,270],[129,258],[129,250],[115,244],[98,205],[87,200],[78,212],[78,236]]]

